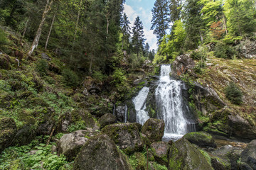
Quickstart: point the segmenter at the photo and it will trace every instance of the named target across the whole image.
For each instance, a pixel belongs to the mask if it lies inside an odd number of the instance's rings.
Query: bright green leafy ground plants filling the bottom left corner
[[[65,161],[63,155],[52,154],[51,147],[55,145],[45,145],[39,143],[38,140],[34,140],[29,145],[21,147],[9,147],[2,152],[0,157],[0,169],[59,169],[64,164],[68,164]],[[34,150],[35,154],[30,152]]]

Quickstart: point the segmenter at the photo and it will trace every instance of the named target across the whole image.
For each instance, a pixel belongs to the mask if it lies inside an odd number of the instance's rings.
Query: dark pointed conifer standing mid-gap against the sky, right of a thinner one
[[[134,21],[134,26],[132,27],[132,45],[134,47],[134,51],[137,53],[137,57],[139,57],[139,52],[143,52],[143,44],[145,39],[144,30],[142,21],[140,21],[139,16]]]

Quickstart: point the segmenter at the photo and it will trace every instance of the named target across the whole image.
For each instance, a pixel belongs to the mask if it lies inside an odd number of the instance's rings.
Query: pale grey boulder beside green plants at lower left
[[[58,154],[64,154],[68,161],[73,161],[80,151],[80,148],[85,145],[90,137],[96,134],[97,132],[92,132],[90,130],[78,130],[63,135],[58,142]]]

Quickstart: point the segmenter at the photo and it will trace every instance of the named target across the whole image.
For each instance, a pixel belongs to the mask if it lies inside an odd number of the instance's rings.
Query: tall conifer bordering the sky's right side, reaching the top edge
[[[166,35],[166,30],[169,29],[169,23],[171,22],[169,16],[169,6],[167,0],[156,0],[152,12],[152,26],[151,30],[154,30],[154,34],[158,40],[158,44],[161,43],[161,39]]]

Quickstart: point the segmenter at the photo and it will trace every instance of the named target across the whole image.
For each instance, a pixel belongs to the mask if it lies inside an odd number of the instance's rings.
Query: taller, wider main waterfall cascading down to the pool
[[[158,118],[165,123],[163,139],[177,140],[188,132],[187,121],[183,115],[181,81],[171,79],[170,65],[161,66],[159,86],[156,88],[156,106]]]

